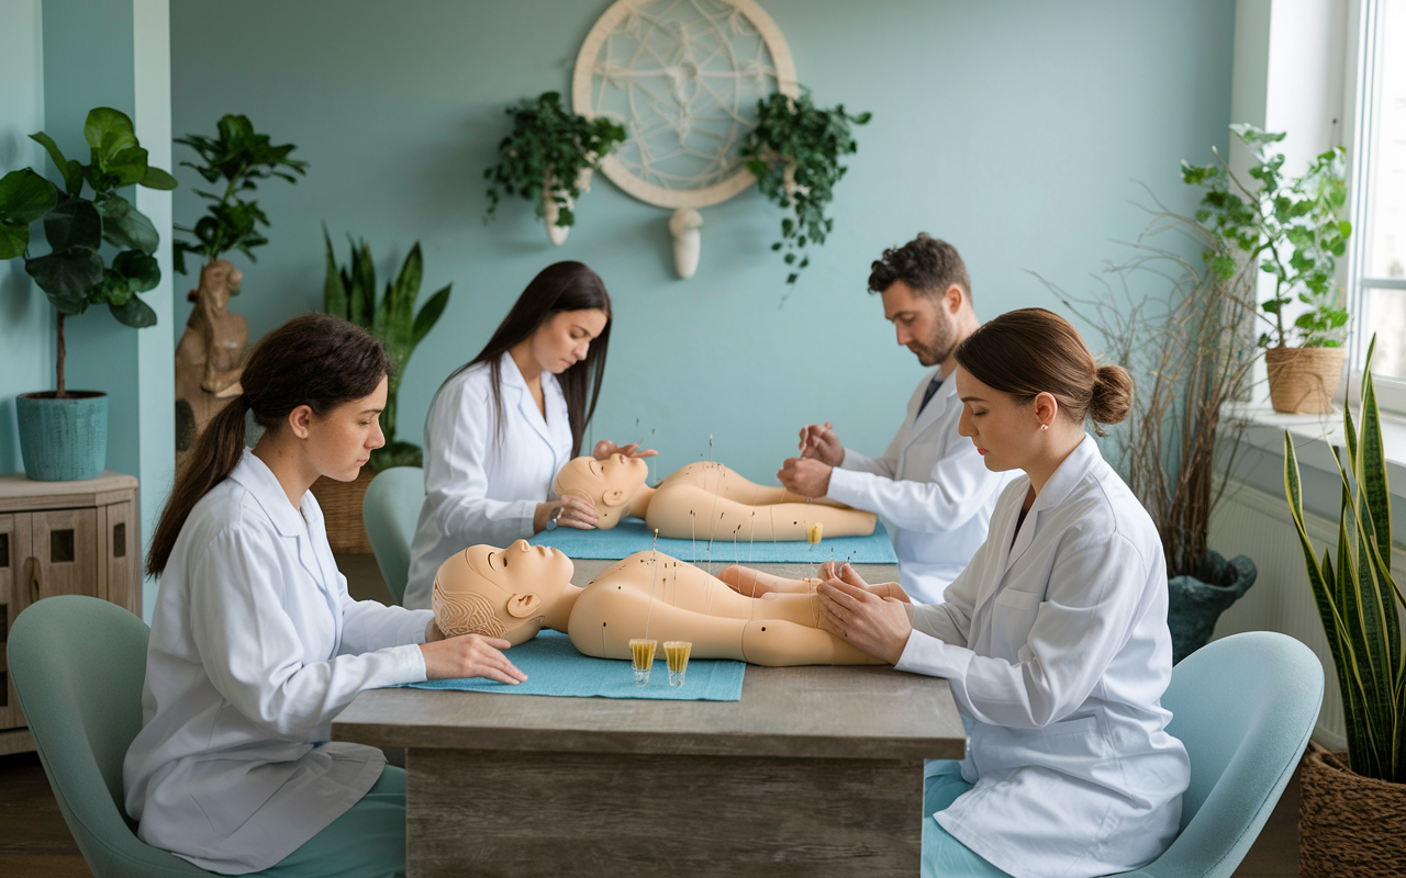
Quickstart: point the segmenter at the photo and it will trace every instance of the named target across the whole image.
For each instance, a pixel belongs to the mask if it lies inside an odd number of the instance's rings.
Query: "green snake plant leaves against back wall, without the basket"
[[[401,378],[405,375],[405,364],[409,362],[415,346],[425,339],[434,322],[444,313],[449,289],[453,284],[432,295],[419,313],[415,313],[415,299],[419,296],[420,278],[425,274],[425,258],[420,254],[420,244],[416,242],[405,257],[401,273],[394,282],[385,285],[385,295],[377,303],[375,263],[371,260],[371,247],[364,240],[353,242],[350,268],[339,268],[326,228],[322,229],[322,237],[328,244],[328,280],[323,288],[326,312],[346,317],[370,330],[381,340],[391,358],[391,381],[385,395],[385,410],[381,413],[385,445],[371,452],[371,471],[381,472],[391,466],[420,466],[420,448],[395,440],[395,399],[401,389]]]

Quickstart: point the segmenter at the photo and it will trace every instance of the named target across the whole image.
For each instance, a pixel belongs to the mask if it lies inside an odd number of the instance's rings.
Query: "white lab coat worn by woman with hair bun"
[[[1002,492],[946,603],[912,608],[896,666],[946,677],[970,725],[962,775],[976,787],[936,819],[1015,878],[1135,870],[1171,844],[1191,778],[1160,704],[1171,680],[1161,541],[1092,437],[1017,535],[1029,485]]]

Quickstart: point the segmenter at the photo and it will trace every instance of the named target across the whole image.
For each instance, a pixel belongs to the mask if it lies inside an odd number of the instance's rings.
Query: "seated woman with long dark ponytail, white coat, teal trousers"
[[[388,369],[381,343],[339,317],[276,329],[162,513],[142,730],[122,781],[138,836],[201,868],[404,875],[405,773],[329,742],[332,719],[367,688],[526,679],[506,641],[446,639],[432,612],[347,596],[308,487],[350,482],[385,444]],[[249,412],[266,428],[253,451]]]

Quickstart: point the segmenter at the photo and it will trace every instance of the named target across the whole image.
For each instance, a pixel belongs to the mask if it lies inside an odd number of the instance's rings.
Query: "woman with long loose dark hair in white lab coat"
[[[558,525],[595,527],[591,503],[554,497],[551,482],[581,452],[609,344],[610,296],[600,275],[582,263],[555,263],[439,389],[425,419],[425,506],[406,607],[429,608],[434,573],[465,546],[509,545]],[[593,454],[655,452],[602,440]]]

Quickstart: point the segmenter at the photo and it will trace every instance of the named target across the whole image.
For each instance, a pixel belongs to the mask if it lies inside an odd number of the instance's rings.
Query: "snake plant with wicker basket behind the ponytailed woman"
[[[425,258],[420,254],[420,244],[416,242],[405,257],[401,273],[395,281],[385,285],[385,294],[377,302],[375,263],[371,258],[371,247],[364,240],[353,242],[352,264],[343,268],[337,266],[336,254],[332,250],[332,237],[326,228],[322,229],[322,237],[326,242],[328,258],[328,277],[323,285],[326,312],[346,317],[370,330],[385,346],[392,365],[385,410],[381,413],[385,445],[371,452],[371,459],[361,469],[356,482],[335,482],[323,478],[312,486],[312,493],[318,497],[318,504],[328,520],[328,538],[332,548],[339,552],[366,555],[371,552],[371,544],[366,535],[366,525],[361,523],[361,499],[371,478],[391,466],[420,466],[423,462],[419,445],[395,438],[396,396],[401,391],[401,378],[405,376],[405,364],[415,353],[415,346],[429,334],[440,315],[444,313],[453,284],[432,295],[420,306],[419,313],[415,312],[415,299],[419,296],[420,278],[425,274]]]

